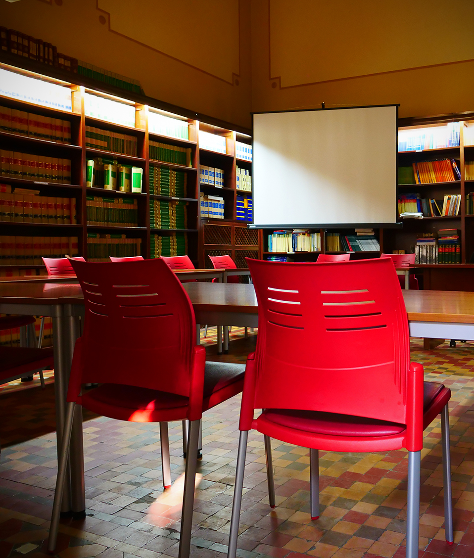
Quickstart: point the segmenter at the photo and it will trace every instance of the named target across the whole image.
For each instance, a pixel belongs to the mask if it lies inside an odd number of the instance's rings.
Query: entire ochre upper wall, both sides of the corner
[[[474,110],[472,0],[0,0],[0,25],[250,126],[250,111]]]

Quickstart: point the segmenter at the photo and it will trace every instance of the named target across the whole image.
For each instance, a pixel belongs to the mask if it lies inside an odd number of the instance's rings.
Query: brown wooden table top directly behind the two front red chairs
[[[243,283],[185,283],[196,310],[257,312],[253,285]],[[409,321],[474,324],[474,292],[404,290]],[[0,283],[0,304],[82,304],[78,283]]]

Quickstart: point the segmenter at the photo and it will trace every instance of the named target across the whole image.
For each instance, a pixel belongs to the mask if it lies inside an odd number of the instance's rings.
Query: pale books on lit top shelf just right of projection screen
[[[441,147],[459,146],[459,122],[449,122],[446,126],[399,130],[399,151],[423,151]]]

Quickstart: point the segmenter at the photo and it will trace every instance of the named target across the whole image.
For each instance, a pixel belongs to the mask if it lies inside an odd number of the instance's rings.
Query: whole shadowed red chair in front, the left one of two
[[[84,294],[85,323],[71,364],[49,550],[56,546],[79,404],[112,419],[159,422],[162,448],[168,421],[190,421],[179,550],[180,558],[188,558],[200,419],[203,411],[242,391],[245,367],[205,362],[204,347],[195,345],[193,306],[161,259],[71,264]],[[100,386],[81,395],[83,383]]]

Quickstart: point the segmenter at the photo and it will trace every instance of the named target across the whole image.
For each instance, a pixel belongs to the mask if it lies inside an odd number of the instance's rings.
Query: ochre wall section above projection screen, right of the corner
[[[472,0],[252,0],[252,109],[474,110]]]

